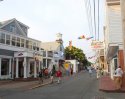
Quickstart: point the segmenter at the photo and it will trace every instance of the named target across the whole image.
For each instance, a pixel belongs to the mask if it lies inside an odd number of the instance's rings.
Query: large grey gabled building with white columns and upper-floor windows
[[[28,38],[28,29],[15,18],[0,22],[0,79],[37,77],[41,41]]]

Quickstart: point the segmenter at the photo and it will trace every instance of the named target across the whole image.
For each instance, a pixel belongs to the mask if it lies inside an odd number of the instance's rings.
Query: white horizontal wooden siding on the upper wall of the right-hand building
[[[108,7],[109,43],[123,42],[120,5]]]

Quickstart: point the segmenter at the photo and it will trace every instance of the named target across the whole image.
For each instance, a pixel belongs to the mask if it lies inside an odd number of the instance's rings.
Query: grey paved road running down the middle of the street
[[[16,90],[4,92],[3,94],[0,92],[1,99],[125,99],[125,93],[99,91],[95,75],[89,77],[87,72],[66,77],[61,84],[54,83],[23,92]]]

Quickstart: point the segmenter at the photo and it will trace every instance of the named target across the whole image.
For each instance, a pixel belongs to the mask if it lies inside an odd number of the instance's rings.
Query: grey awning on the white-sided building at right
[[[107,61],[110,61],[111,59],[113,59],[113,57],[115,57],[117,55],[119,46],[109,46],[108,50],[107,50]]]

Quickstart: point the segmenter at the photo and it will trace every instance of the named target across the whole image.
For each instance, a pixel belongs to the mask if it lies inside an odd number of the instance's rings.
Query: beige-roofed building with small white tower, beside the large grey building
[[[42,42],[41,48],[43,51],[43,67],[48,68],[50,65],[56,66],[62,65],[64,62],[64,46],[62,40],[62,34],[58,33],[56,41]]]

